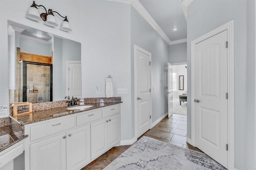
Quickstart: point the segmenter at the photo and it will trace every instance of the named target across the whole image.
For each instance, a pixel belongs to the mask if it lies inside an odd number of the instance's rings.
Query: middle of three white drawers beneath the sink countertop
[[[97,111],[92,111],[90,113],[85,113],[82,115],[77,115],[76,116],[76,125],[80,126],[80,125],[84,125],[88,122],[97,120],[97,119],[101,119],[102,118],[102,111],[101,110],[97,110]]]

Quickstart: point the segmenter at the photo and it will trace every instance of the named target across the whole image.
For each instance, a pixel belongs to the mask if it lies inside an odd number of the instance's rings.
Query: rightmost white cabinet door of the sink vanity
[[[120,141],[120,115],[108,118],[108,147]]]

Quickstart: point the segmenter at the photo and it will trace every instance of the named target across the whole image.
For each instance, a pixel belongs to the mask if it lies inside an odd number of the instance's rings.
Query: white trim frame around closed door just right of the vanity
[[[145,53],[147,55],[149,55],[149,61],[151,62],[151,53],[146,51],[145,49],[142,49],[141,47],[139,47],[138,45],[134,44],[134,134],[135,134],[135,138],[138,138],[138,129],[137,129],[137,61],[136,61],[136,50],[141,51],[142,53]],[[149,67],[149,74],[150,74],[150,80],[149,80],[149,87],[151,89],[151,67]],[[151,119],[150,119],[150,128],[152,127],[152,95],[151,92],[149,94],[149,100],[150,100],[150,113],[149,115],[151,115]]]

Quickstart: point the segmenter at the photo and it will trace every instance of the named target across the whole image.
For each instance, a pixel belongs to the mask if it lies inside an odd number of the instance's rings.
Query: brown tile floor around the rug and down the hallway
[[[160,141],[178,145],[180,147],[202,152],[196,147],[193,147],[192,145],[186,143],[186,136],[187,136],[187,116],[186,115],[172,114],[172,116],[169,119],[168,117],[165,117],[156,126],[148,130],[142,136],[151,137],[154,139],[158,139]],[[139,139],[141,137],[139,137]],[[82,168],[82,170],[87,170],[87,169],[102,170],[108,164],[110,164],[110,162],[112,162],[120,154],[122,154],[126,149],[128,149],[130,146],[132,145],[113,147],[112,149],[108,150],[107,152],[105,152],[104,154],[96,158],[96,160],[92,161],[90,164]]]

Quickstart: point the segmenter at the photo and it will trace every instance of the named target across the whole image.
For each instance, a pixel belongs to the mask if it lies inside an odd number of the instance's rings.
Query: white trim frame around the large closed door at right
[[[234,20],[191,41],[191,145],[196,146],[195,46],[225,30],[228,31],[228,169],[234,169]]]

